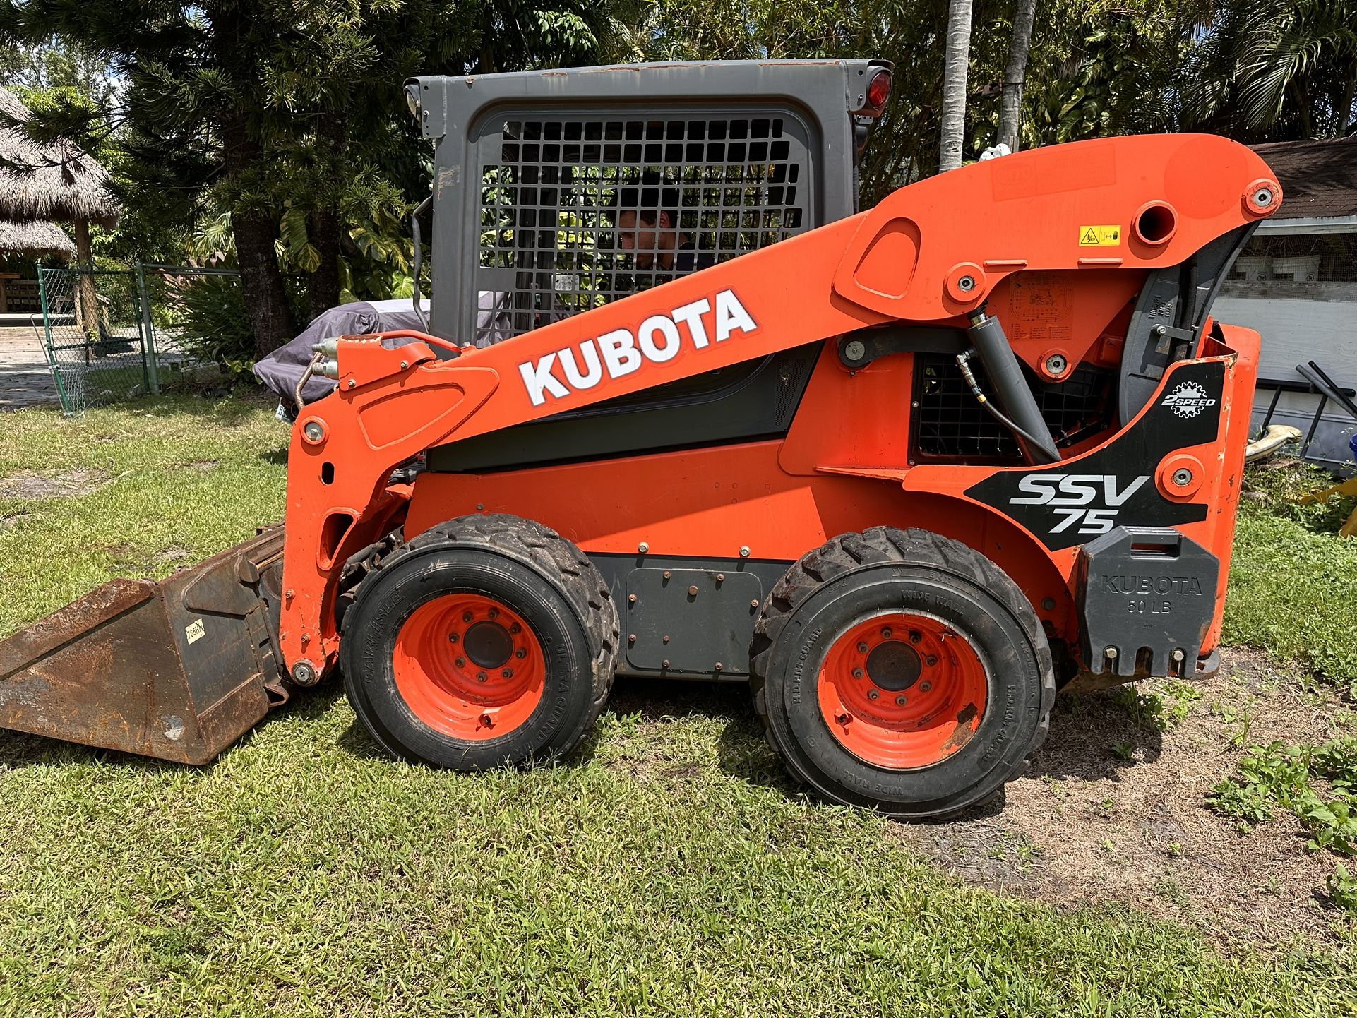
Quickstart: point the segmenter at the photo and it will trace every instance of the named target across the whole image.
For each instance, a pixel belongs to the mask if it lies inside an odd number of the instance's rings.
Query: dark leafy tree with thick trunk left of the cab
[[[0,41],[107,56],[123,88],[102,117],[66,105],[43,129],[109,124],[126,205],[229,219],[262,354],[296,331],[284,270],[311,312],[337,303],[350,225],[370,236],[426,190],[404,77],[578,62],[598,20],[585,0],[5,0]]]

